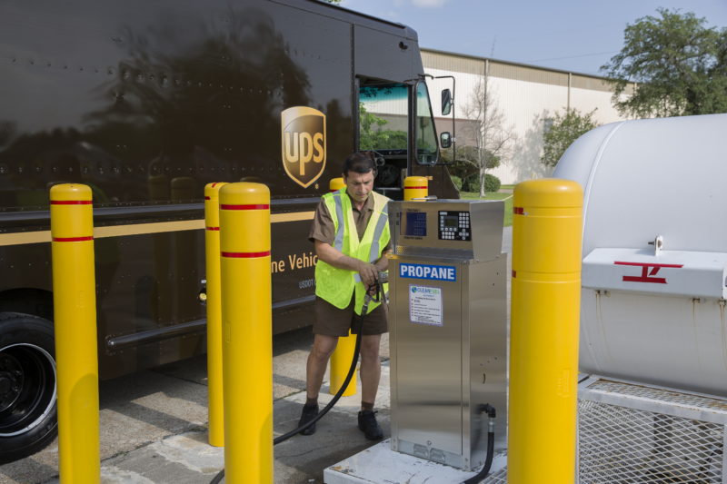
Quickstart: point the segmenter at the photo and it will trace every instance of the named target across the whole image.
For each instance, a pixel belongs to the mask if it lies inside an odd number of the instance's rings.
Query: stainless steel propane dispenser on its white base
[[[391,440],[324,480],[396,481],[410,462],[418,477],[458,482],[485,460],[485,405],[496,410],[494,451],[507,443],[503,202],[389,202],[389,221]]]

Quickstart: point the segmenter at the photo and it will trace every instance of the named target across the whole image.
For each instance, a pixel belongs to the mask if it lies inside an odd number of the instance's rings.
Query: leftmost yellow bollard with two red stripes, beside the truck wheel
[[[62,484],[101,481],[98,353],[91,189],[51,188],[51,250]]]

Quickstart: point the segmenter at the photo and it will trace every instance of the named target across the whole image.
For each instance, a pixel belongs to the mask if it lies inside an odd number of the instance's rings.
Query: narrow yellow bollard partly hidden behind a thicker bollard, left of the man
[[[222,376],[222,298],[220,296],[220,188],[204,187],[204,247],[207,304],[207,401],[210,445],[224,446],[224,400]]]

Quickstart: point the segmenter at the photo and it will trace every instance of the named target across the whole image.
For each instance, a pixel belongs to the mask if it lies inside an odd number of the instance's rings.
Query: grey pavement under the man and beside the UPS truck
[[[503,252],[512,248],[512,228]],[[305,359],[310,328],[274,337],[274,435],[293,430],[305,401]],[[382,379],[376,399],[384,436],[390,435],[389,346],[382,341]],[[360,382],[359,382],[360,383]],[[321,394],[328,395],[327,375]],[[276,483],[323,483],[324,469],[375,442],[356,427],[361,400],[342,398],[313,436],[294,436],[274,448]],[[105,484],[202,484],[224,468],[224,449],[207,444],[206,357],[178,361],[100,385],[102,482]],[[0,484],[58,482],[57,440],[23,460],[0,466]]]

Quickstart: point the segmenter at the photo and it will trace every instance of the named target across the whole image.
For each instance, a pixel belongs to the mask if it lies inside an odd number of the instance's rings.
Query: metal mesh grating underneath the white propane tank
[[[578,477],[582,484],[722,484],[724,425],[638,408],[642,406],[638,399],[648,399],[672,407],[718,410],[719,400],[605,380],[589,385],[586,391],[590,390],[626,398],[624,406],[579,400]]]

